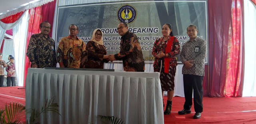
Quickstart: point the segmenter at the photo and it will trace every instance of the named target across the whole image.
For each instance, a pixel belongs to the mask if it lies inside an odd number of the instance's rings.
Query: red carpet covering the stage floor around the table
[[[25,104],[25,89],[18,88],[22,87],[0,87],[0,109],[13,101]],[[166,100],[164,96],[165,104]],[[191,114],[178,115],[184,101],[183,97],[173,98],[172,112],[164,115],[164,124],[256,124],[256,97],[204,97],[200,119],[193,119],[194,106]]]

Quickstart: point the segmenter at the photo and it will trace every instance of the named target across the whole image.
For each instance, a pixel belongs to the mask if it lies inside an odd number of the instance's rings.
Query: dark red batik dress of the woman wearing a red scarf
[[[165,53],[167,42],[170,39],[170,36],[165,41],[162,41],[163,38],[158,38],[154,42],[152,55],[155,57],[153,64],[154,72],[160,73],[160,83],[162,91],[174,91],[174,77],[176,73],[176,66],[178,65],[175,55],[180,53],[180,43],[176,37],[174,37],[172,48],[168,57],[171,58],[169,64],[169,73],[164,72],[164,57],[156,58],[158,53]],[[168,66],[168,65],[167,65]]]

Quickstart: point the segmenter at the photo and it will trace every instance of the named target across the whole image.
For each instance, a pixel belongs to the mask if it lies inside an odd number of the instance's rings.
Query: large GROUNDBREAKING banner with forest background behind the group
[[[180,46],[189,40],[186,28],[190,24],[198,26],[198,37],[208,43],[208,21],[206,1],[152,1],[114,2],[59,6],[56,31],[56,47],[62,37],[69,35],[68,26],[76,24],[78,37],[85,43],[91,40],[92,32],[100,28],[107,54],[120,51],[120,38],[117,26],[128,24],[129,31],[138,36],[145,61],[154,61],[152,48],[154,41],[162,37],[162,25],[170,23]],[[180,63],[180,55],[176,55]],[[208,63],[208,57],[205,60]]]

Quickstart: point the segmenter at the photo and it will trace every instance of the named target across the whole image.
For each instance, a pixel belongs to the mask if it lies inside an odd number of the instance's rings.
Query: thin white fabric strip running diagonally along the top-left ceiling
[[[32,1],[32,0],[31,0],[31,1]],[[21,7],[21,8],[16,9],[16,10],[10,11],[10,12],[8,12],[8,13],[6,13],[6,14],[3,14],[3,15],[0,16],[0,19],[6,18],[6,17],[8,17],[8,16],[15,15],[15,14],[17,14],[17,13],[19,13],[19,12],[22,12],[22,11],[25,11],[25,10],[29,10],[29,9],[31,9],[31,8],[35,8],[35,7],[38,7],[38,6],[42,6],[42,5],[47,4],[48,2],[52,2],[52,1],[54,1],[54,0],[40,0],[40,1],[38,1],[38,2],[34,2],[34,3],[29,4],[29,5],[27,5],[27,6],[23,6],[23,7]],[[2,6],[4,6],[4,5],[2,5]]]

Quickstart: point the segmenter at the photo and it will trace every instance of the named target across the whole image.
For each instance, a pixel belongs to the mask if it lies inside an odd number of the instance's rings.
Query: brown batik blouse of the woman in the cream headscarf
[[[103,56],[107,54],[106,47],[94,41],[86,44],[86,54],[81,59],[80,68],[104,69],[104,63],[108,63]]]

